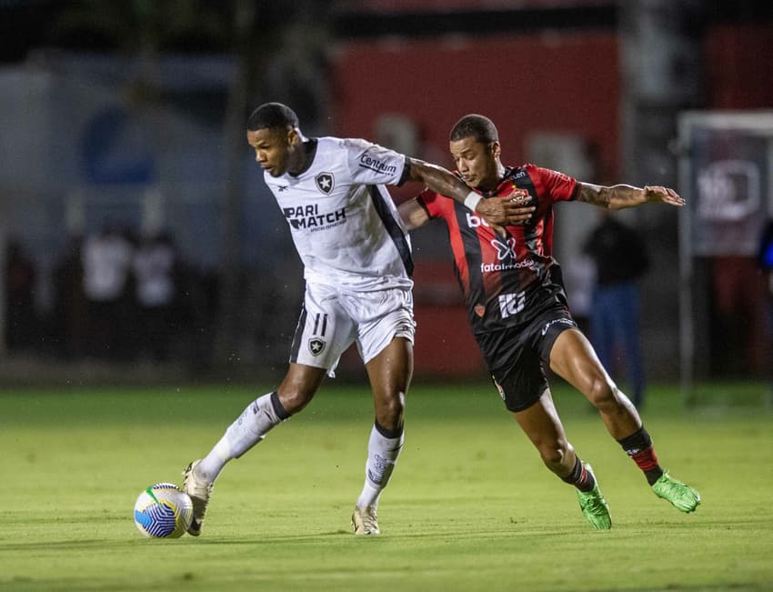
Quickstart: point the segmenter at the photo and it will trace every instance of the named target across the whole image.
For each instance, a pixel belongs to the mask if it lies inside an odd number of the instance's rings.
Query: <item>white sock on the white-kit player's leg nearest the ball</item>
[[[242,415],[228,426],[226,434],[198,464],[196,475],[214,483],[229,460],[241,457],[247,450],[266,437],[266,433],[272,427],[286,419],[286,416],[281,416],[276,412],[271,400],[272,396],[276,396],[276,393],[259,396],[246,406]],[[278,405],[278,403],[277,399],[276,404]]]

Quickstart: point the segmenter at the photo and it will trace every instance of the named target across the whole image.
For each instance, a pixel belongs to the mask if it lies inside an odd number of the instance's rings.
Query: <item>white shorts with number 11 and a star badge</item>
[[[290,362],[326,368],[335,376],[338,359],[353,343],[367,364],[395,337],[413,343],[415,331],[410,289],[350,292],[306,284]]]

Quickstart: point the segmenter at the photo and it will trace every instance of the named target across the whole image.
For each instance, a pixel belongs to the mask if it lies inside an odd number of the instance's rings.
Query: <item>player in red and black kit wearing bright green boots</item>
[[[534,165],[503,166],[497,127],[483,115],[466,115],[450,135],[457,175],[481,197],[521,202],[523,225],[488,226],[453,199],[426,190],[399,206],[409,230],[432,218],[448,227],[467,316],[499,394],[539,451],[547,468],[577,488],[591,527],[612,526],[607,501],[590,465],[567,440],[543,370],[549,367],[595,406],[614,437],[647,477],[658,497],[683,512],[700,503],[698,491],[658,464],[652,439],[631,404],[598,362],[567,307],[561,271],[552,256],[553,206],[578,201],[617,210],[645,203],[683,206],[673,189],[580,183]],[[514,187],[522,190],[519,197]]]

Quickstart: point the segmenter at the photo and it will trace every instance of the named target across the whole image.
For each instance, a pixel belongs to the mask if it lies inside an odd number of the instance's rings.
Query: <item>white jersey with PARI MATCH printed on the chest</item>
[[[320,137],[299,175],[264,174],[304,264],[307,282],[355,291],[410,288],[410,240],[385,185],[406,156],[366,140]]]

